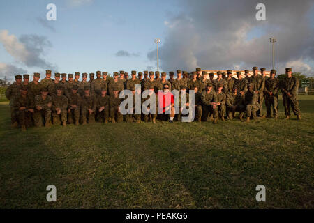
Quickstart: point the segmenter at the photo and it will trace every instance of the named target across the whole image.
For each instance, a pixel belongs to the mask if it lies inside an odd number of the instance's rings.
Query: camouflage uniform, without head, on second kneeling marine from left
[[[43,126],[43,117],[45,117],[45,125],[51,123],[51,107],[48,106],[49,103],[52,103],[52,98],[50,95],[47,95],[45,100],[42,95],[36,95],[35,97],[35,111],[33,113],[33,122],[36,127]],[[42,109],[38,110],[36,107],[40,106]]]

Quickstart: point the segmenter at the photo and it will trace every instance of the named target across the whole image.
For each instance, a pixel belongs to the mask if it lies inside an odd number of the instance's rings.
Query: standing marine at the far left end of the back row
[[[6,98],[10,101],[10,110],[11,110],[11,123],[14,128],[17,127],[17,114],[15,112],[15,109],[13,107],[14,105],[14,99],[17,95],[20,94],[20,89],[22,88],[22,76],[21,75],[15,75],[15,82],[8,86],[6,89]]]

